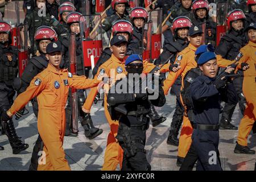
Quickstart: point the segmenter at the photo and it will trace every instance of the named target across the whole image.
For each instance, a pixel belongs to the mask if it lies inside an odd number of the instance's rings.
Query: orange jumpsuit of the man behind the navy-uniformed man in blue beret
[[[169,75],[167,76],[166,80],[164,80],[164,85],[163,85],[163,90],[164,94],[168,94],[168,90],[171,88],[171,86],[174,84],[176,78],[181,75],[181,90],[183,89],[183,78],[185,74],[192,68],[197,67],[197,63],[195,61],[195,52],[196,52],[196,47],[193,46],[192,44],[189,44],[188,47],[183,49],[181,51],[175,60],[176,64],[179,64],[181,69],[177,72],[170,72]],[[217,64],[219,67],[227,67],[229,64],[232,64],[232,61],[230,60],[225,60],[222,59],[220,55],[217,55]],[[183,104],[183,100],[180,96],[180,101]],[[183,104],[184,106],[184,104]],[[181,127],[181,134],[179,138],[179,147],[178,147],[178,156],[181,158],[185,158],[187,155],[187,152],[191,146],[192,140],[191,140],[191,135],[192,135],[193,128],[191,126],[191,122],[189,121],[188,117],[186,115],[183,116],[183,125]]]

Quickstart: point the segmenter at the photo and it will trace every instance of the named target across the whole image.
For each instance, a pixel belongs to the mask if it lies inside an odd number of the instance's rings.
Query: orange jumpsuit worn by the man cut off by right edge
[[[249,64],[250,68],[243,71],[243,94],[245,94],[247,105],[239,125],[237,143],[247,146],[248,135],[256,120],[256,43],[249,42],[240,49],[240,52],[243,56],[237,68],[241,69],[241,63]]]

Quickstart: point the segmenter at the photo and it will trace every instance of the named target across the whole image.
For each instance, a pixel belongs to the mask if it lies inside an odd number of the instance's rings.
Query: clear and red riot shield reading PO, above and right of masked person
[[[147,27],[147,45],[146,50],[143,51],[143,59],[152,62],[159,57],[162,47],[162,9],[150,11],[150,20],[145,27]]]

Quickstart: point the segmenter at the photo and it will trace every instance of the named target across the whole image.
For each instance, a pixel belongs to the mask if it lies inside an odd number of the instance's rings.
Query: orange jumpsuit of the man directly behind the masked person
[[[169,70],[170,64],[164,65],[160,71],[161,72],[167,72]],[[147,61],[143,61],[143,73],[150,72],[153,68],[155,68],[155,65],[152,63],[148,63]],[[98,72],[95,75],[97,77],[98,75],[103,75],[106,73],[108,77],[112,78],[112,84],[116,80],[119,80],[122,77],[126,77],[127,72],[125,71],[125,61],[118,60],[113,54],[110,57],[108,61],[106,61],[104,64],[98,68]],[[106,84],[105,84],[106,85]],[[109,88],[109,86],[107,87]],[[108,89],[106,89],[108,91]],[[92,88],[90,90],[90,93],[88,94],[88,97],[86,98],[84,109],[90,110],[90,107],[92,106],[93,100],[97,94],[98,90],[97,88]],[[104,155],[104,164],[102,166],[102,170],[106,171],[114,171],[117,168],[117,165],[119,163],[120,168],[122,168],[122,160],[123,160],[123,150],[121,146],[119,146],[117,140],[115,137],[117,136],[118,131],[118,121],[113,121],[110,117],[109,111],[108,111],[108,103],[106,102],[106,95],[104,97],[104,109],[105,109],[105,116],[108,120],[109,126],[110,126],[110,133],[108,135],[107,139],[107,146],[106,151]]]

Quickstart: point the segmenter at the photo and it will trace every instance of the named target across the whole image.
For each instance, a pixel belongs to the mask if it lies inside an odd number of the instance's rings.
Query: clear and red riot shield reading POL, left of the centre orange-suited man
[[[84,67],[92,67],[102,53],[102,28],[100,15],[84,15],[80,17],[82,39],[82,55]]]

